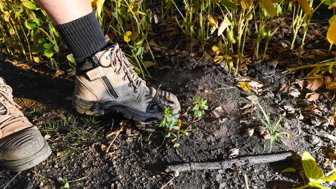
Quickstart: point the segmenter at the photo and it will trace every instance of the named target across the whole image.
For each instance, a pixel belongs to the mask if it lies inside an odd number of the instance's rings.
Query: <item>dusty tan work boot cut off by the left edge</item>
[[[51,154],[47,141],[13,101],[12,88],[0,77],[0,165],[19,172]]]

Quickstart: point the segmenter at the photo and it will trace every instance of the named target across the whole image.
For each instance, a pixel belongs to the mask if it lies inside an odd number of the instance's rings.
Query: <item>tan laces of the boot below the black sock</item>
[[[113,49],[112,49],[113,48]],[[112,50],[111,50],[112,49]],[[134,68],[133,65],[127,60],[125,54],[121,51],[118,45],[109,48],[108,50],[111,51],[110,56],[107,56],[107,59],[111,58],[111,66],[115,68],[115,72],[120,75],[122,72],[125,73],[123,80],[125,81],[127,76],[130,80],[128,84],[129,87],[134,87],[134,92],[137,93],[139,91],[139,86],[141,83],[145,84],[143,81],[132,69]],[[119,69],[117,65],[120,65]]]

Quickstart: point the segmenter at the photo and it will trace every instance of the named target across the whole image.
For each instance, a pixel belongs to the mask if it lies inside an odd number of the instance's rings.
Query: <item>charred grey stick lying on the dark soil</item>
[[[187,162],[176,165],[169,165],[165,169],[166,172],[182,172],[200,169],[227,169],[230,167],[239,167],[246,164],[269,163],[290,159],[292,152],[247,156],[235,159],[228,159],[217,162]]]

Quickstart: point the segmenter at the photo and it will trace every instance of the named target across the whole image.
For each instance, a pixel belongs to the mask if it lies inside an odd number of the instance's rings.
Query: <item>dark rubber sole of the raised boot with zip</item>
[[[162,119],[160,113],[140,112],[134,108],[115,102],[95,102],[88,101],[78,95],[73,96],[73,106],[77,112],[86,115],[104,115],[107,112],[122,113],[127,119],[142,122],[157,122]]]

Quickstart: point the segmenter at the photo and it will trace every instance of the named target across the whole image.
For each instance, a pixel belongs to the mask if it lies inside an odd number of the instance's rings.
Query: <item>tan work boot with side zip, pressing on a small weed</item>
[[[162,119],[165,106],[179,113],[180,103],[175,95],[147,87],[132,68],[117,43],[86,59],[76,67],[76,110],[88,115],[114,111],[143,122]]]

